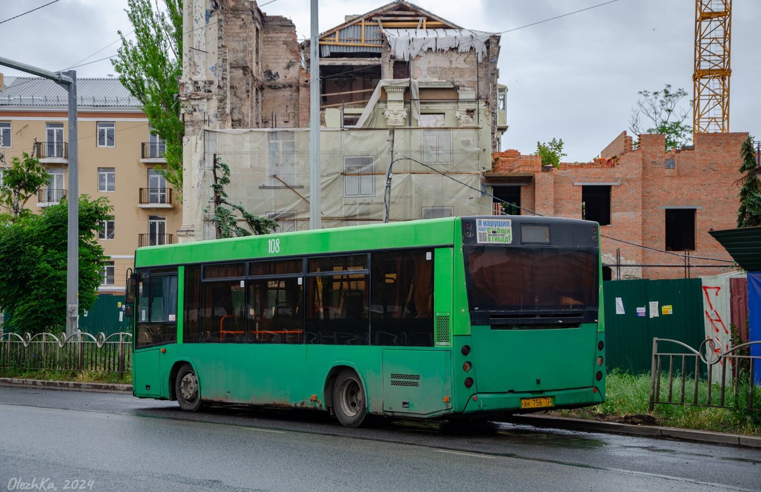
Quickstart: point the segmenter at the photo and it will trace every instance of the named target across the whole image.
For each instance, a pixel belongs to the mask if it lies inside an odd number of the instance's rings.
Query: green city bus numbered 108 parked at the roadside
[[[133,393],[478,419],[604,401],[597,223],[447,217],[139,248]]]

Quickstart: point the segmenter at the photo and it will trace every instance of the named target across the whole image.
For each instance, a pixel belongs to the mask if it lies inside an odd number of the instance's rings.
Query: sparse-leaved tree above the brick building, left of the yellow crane
[[[632,108],[632,116],[629,118],[629,129],[635,135],[665,134],[666,151],[689,145],[693,141],[693,128],[685,124],[693,101],[689,101],[687,110],[680,106],[681,100],[687,96],[683,88],[672,90],[671,84],[665,84],[661,90],[640,90],[637,94],[642,96],[642,99],[637,100],[637,107]],[[648,129],[645,129],[645,124],[642,123],[643,115],[650,120],[650,123],[646,124],[650,127]]]

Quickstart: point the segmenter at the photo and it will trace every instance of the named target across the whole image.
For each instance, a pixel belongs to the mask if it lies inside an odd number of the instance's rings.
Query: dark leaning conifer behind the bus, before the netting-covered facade
[[[217,175],[217,170],[221,170],[221,176]],[[269,234],[278,227],[278,223],[268,217],[250,214],[241,205],[228,202],[228,194],[224,187],[230,184],[230,167],[219,161],[219,157],[214,160],[214,217],[211,221],[216,228],[217,239],[224,239],[235,236],[250,236],[253,232],[256,235]],[[224,205],[227,205],[225,207]],[[229,208],[228,208],[229,207]],[[234,211],[238,211],[248,225],[249,229],[238,225],[237,217]],[[204,209],[204,213],[209,213],[209,207]]]

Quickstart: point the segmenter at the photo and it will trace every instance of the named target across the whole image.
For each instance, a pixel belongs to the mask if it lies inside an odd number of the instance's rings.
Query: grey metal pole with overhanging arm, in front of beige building
[[[0,57],[0,65],[49,78],[68,90],[68,233],[66,236],[66,336],[78,330],[79,181],[77,145],[77,71],[48,71]]]

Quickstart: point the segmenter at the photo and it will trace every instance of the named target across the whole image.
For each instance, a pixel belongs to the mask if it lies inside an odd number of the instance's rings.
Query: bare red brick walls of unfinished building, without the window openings
[[[561,163],[559,169],[535,172],[529,186],[521,186],[521,206],[540,214],[581,218],[584,183],[609,184],[610,225],[601,226],[603,236],[664,250],[667,207],[697,207],[696,249],[691,256],[731,259],[708,230],[731,229],[737,216],[737,186],[740,177],[740,144],[747,133],[711,133],[695,137],[694,148],[664,151],[664,135],[639,135],[637,150],[625,132],[608,145],[601,158],[591,163]],[[623,150],[623,152],[622,152]],[[524,156],[517,151],[495,154],[495,173],[517,172],[512,165]],[[675,160],[666,169],[665,160]],[[505,164],[508,162],[510,164]],[[524,168],[520,168],[524,170]],[[488,183],[487,183],[488,184]],[[615,262],[616,249],[622,259],[621,278],[680,278],[683,260],[664,252],[630,246],[603,237],[603,262]],[[692,265],[721,262],[693,259]],[[626,264],[674,265],[673,268],[638,268]],[[715,275],[729,268],[692,268],[692,275]],[[616,268],[613,268],[616,278]]]

